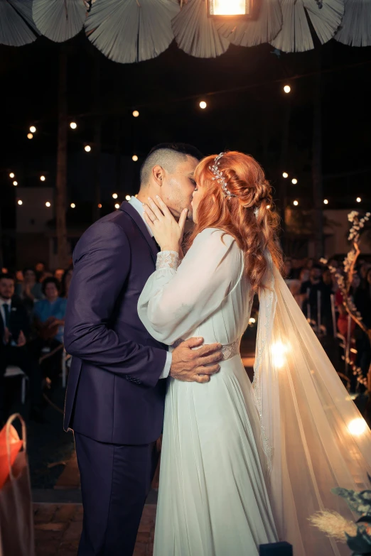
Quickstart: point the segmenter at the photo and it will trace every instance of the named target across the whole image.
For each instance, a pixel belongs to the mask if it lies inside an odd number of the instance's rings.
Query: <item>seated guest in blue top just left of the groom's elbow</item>
[[[63,349],[63,327],[67,300],[59,297],[60,283],[56,278],[45,278],[43,294],[33,309],[34,323],[38,338],[33,343],[48,372],[49,378],[56,378],[60,371],[61,350]]]

